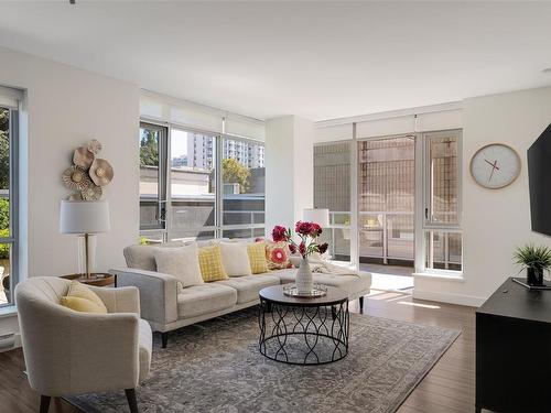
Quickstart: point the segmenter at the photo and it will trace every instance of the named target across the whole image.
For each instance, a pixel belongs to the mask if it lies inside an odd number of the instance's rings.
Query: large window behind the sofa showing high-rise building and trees
[[[140,210],[149,242],[263,236],[263,143],[142,122]]]

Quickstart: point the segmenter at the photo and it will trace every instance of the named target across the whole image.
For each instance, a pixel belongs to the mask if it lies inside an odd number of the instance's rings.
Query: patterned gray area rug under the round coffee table
[[[395,412],[458,332],[350,314],[349,352],[324,366],[289,366],[258,350],[257,307],[155,337],[138,389],[152,412]],[[86,412],[128,412],[125,392],[69,398]]]

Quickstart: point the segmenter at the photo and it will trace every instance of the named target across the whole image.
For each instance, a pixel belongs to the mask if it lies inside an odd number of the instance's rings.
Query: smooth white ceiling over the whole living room
[[[549,2],[76,1],[1,2],[0,45],[259,119],[551,85]]]

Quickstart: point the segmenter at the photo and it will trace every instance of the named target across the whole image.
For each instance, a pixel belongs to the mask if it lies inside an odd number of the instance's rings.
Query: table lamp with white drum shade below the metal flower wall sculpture
[[[79,236],[78,257],[80,258],[79,262],[84,261],[86,279],[90,278],[96,258],[95,233],[107,232],[109,229],[109,204],[107,200],[62,200],[60,232]]]

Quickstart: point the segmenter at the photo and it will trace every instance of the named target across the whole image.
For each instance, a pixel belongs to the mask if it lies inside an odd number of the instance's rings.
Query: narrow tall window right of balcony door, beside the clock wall
[[[425,270],[462,270],[461,131],[423,134]]]

